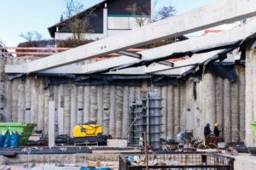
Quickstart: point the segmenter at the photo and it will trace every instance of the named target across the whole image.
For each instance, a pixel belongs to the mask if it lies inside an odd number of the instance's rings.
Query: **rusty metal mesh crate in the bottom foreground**
[[[141,157],[143,155],[136,155]],[[173,153],[173,154],[148,154],[151,161],[157,161],[159,165],[149,165],[149,169],[234,169],[235,159],[229,156],[217,154],[194,153]],[[143,159],[143,158],[141,158]],[[160,162],[172,161],[172,164],[163,165]],[[145,165],[134,165],[128,160],[127,156],[119,156],[119,169],[137,170],[145,169]]]

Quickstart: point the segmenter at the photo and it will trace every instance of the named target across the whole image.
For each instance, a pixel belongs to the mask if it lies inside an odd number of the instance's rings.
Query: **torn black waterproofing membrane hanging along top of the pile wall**
[[[253,36],[254,38],[254,36]],[[154,84],[155,86],[173,85],[177,86],[179,81],[191,80],[194,82],[201,81],[201,76],[205,71],[212,73],[215,76],[227,78],[230,82],[235,82],[237,79],[235,62],[222,62],[227,58],[227,54],[231,53],[234,49],[240,48],[241,59],[245,59],[245,47],[247,41],[251,40],[252,37],[247,37],[245,40],[236,42],[230,42],[222,45],[218,45],[211,48],[201,48],[193,51],[173,53],[166,57],[158,59],[143,60],[141,62],[131,65],[121,65],[119,67],[113,67],[105,71],[99,71],[91,74],[84,75],[73,75],[73,74],[33,74],[35,80],[38,77],[45,77],[46,81],[44,87],[47,88],[49,85],[60,85],[68,84],[70,82],[78,86],[85,85],[117,85],[117,86],[140,86],[142,82],[147,81],[148,85]],[[220,53],[212,56],[211,59],[207,59],[200,65],[195,65],[189,71],[184,72],[182,75],[107,75],[102,74],[108,71],[118,71],[121,69],[138,67],[142,65],[151,65],[154,62],[163,61],[166,59],[176,59],[184,56],[192,56],[193,54],[203,54],[215,50],[223,49]],[[21,81],[26,80],[25,74],[9,74],[9,80],[20,77]]]

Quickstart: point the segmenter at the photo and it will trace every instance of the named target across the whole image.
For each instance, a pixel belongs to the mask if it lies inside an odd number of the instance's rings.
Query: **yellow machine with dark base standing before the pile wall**
[[[103,135],[102,125],[94,122],[77,125],[73,130],[74,143],[92,143],[107,144],[107,137]]]

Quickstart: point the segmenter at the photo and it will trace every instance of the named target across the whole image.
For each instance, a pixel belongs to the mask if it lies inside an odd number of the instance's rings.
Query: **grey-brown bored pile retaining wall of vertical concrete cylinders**
[[[38,129],[48,133],[48,104],[55,101],[57,134],[73,135],[73,127],[81,122],[97,121],[104,133],[122,137],[128,128],[129,104],[148,90],[141,86],[75,86],[72,82],[44,88],[45,78],[26,77],[7,80],[4,63],[18,64],[22,59],[1,59],[0,107],[4,122],[37,122]],[[206,73],[201,82],[179,82],[154,87],[160,90],[162,104],[161,137],[174,137],[184,130],[193,130],[203,138],[207,122],[219,123],[221,135],[227,141],[241,141],[245,137],[245,68],[236,65],[238,80]],[[212,129],[213,130],[213,129]]]

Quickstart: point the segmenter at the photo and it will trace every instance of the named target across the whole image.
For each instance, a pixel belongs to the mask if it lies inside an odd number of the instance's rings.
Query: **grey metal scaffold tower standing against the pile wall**
[[[142,143],[143,132],[146,132],[148,145],[154,149],[160,148],[160,92],[153,91],[143,94],[142,99],[131,103],[129,121],[129,142]]]

